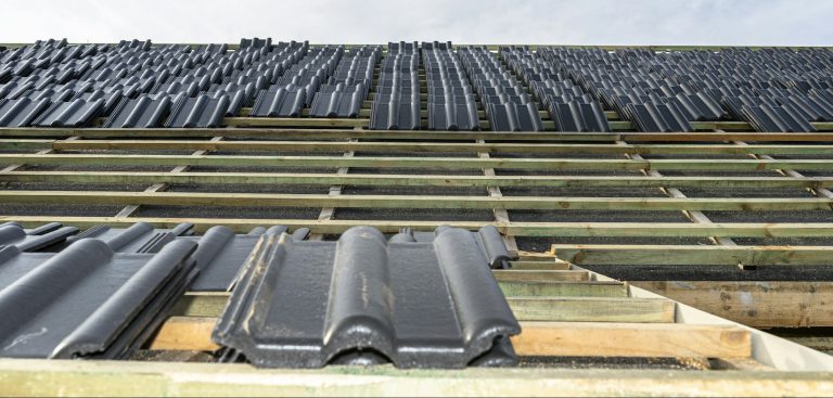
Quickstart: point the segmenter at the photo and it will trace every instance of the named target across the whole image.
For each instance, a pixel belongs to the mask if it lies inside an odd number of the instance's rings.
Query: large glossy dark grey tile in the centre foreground
[[[517,361],[509,336],[521,328],[469,231],[433,242],[371,227],[337,242],[267,234],[245,267],[213,339],[255,365]]]

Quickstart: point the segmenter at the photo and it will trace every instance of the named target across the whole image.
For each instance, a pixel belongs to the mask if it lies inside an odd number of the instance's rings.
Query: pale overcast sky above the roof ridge
[[[0,42],[833,44],[831,0],[2,1]]]

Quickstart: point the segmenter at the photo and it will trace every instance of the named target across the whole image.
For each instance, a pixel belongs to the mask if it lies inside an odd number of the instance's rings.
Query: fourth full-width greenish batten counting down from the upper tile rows
[[[831,188],[833,177],[643,177],[643,176],[415,176],[333,175],[290,172],[154,172],[154,171],[8,171],[0,182],[180,183],[180,184],[303,184],[397,187],[515,188],[709,188],[805,189]]]

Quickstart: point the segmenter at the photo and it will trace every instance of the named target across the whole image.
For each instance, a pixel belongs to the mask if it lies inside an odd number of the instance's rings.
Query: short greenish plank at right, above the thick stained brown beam
[[[833,246],[552,245],[575,265],[833,265]]]

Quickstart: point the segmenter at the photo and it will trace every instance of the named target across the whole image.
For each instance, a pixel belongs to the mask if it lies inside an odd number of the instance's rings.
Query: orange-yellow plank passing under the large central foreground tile
[[[216,318],[171,317],[151,339],[154,350],[219,348]],[[748,358],[749,332],[728,325],[679,323],[524,322],[512,337],[518,356]]]

